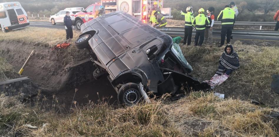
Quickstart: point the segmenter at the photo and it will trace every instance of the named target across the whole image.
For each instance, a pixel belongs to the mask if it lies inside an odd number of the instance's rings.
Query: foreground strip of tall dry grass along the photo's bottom
[[[43,99],[46,100],[46,99]],[[127,136],[127,137],[275,137],[272,111],[245,101],[220,100],[213,94],[192,93],[177,102],[152,100],[127,108],[114,108],[107,103],[63,110],[53,97],[50,111],[31,107],[15,98],[1,95],[0,135],[6,136]],[[194,107],[195,106],[195,107]],[[199,109],[196,109],[199,108]],[[56,111],[55,111],[56,110]],[[24,126],[30,124],[35,128]]]

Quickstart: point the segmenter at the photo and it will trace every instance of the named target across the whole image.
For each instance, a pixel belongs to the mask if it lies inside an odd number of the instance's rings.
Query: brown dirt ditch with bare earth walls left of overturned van
[[[22,43],[0,43],[0,56],[6,58],[16,71],[20,70],[32,50],[35,50],[35,53],[25,67],[22,77],[32,79],[42,88],[44,95],[51,97],[55,94],[66,106],[70,105],[73,99],[78,103],[87,103],[88,100],[109,100],[114,103],[117,100],[117,95],[106,77],[94,80],[94,66],[83,56],[79,59],[83,61],[72,61],[73,57],[67,57],[69,53],[65,52],[65,49],[52,50]],[[75,89],[78,89],[76,93]]]

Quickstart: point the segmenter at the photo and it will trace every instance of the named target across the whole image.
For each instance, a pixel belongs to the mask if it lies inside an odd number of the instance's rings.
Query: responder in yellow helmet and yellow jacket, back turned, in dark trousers
[[[205,39],[205,27],[209,24],[209,20],[204,12],[205,10],[200,8],[199,15],[195,17],[193,22],[194,27],[196,27],[195,46],[202,46],[203,40]]]

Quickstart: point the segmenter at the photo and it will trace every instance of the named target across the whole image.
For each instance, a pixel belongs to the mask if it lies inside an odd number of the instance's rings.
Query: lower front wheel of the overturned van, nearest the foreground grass
[[[132,106],[141,100],[142,96],[136,83],[127,83],[118,90],[117,99],[120,104]]]

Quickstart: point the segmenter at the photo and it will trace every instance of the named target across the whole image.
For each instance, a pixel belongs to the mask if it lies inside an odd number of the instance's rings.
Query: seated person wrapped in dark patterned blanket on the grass
[[[218,70],[210,80],[205,80],[203,83],[210,85],[213,89],[217,85],[225,82],[230,74],[239,68],[239,60],[236,52],[233,51],[233,45],[227,45],[225,51],[219,59]]]

